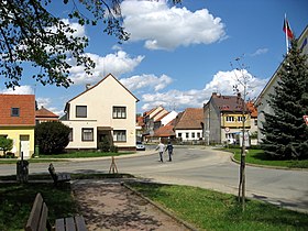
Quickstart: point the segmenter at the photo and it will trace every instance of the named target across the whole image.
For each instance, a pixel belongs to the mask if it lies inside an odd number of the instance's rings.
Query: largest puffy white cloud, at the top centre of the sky
[[[123,1],[123,26],[130,41],[145,41],[148,50],[174,50],[226,38],[224,24],[207,9],[191,12],[165,1]],[[130,42],[129,41],[129,42]]]

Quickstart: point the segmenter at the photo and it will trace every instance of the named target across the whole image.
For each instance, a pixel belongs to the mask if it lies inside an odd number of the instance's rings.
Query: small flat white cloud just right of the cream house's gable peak
[[[157,77],[155,75],[132,76],[130,78],[122,78],[120,81],[131,91],[146,88],[147,90],[154,89],[158,91],[173,82],[173,79],[166,75]]]

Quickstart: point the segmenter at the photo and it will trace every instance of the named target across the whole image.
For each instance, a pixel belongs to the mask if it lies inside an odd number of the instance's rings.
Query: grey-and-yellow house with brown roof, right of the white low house
[[[238,96],[221,96],[213,92],[204,105],[205,136],[208,144],[234,143],[242,132],[243,120],[245,130],[251,128],[249,110],[243,111],[243,99]]]

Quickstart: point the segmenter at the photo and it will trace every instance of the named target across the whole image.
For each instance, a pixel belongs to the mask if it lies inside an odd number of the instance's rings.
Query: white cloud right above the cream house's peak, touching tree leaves
[[[95,84],[109,73],[116,77],[120,77],[124,73],[134,70],[144,58],[141,55],[132,58],[123,51],[108,54],[105,57],[91,53],[87,53],[86,55],[96,63],[96,67],[91,70],[92,75],[87,75],[82,66],[76,66],[73,59],[69,61],[73,65],[69,77],[75,85]]]

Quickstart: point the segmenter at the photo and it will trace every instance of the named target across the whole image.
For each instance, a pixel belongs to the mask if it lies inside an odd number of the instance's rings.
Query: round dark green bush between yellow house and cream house
[[[69,143],[69,127],[62,122],[43,122],[35,127],[35,143],[44,154],[61,153]]]

